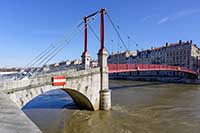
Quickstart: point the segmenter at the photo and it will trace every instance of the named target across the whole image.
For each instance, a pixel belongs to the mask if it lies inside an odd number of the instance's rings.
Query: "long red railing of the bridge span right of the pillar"
[[[185,73],[197,74],[197,72],[179,66],[167,66],[157,64],[109,64],[109,73],[129,72],[129,71],[180,71]]]

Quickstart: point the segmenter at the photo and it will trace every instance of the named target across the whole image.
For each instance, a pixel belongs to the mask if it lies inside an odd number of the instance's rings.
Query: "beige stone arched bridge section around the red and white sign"
[[[51,85],[51,77],[65,75],[67,83],[64,87]],[[108,72],[104,70],[104,75]],[[108,80],[105,88],[108,88]],[[86,70],[60,71],[40,75],[30,80],[4,82],[0,89],[6,92],[18,107],[25,106],[35,97],[49,90],[61,88],[71,95],[80,107],[90,110],[100,109],[101,71],[100,67]]]

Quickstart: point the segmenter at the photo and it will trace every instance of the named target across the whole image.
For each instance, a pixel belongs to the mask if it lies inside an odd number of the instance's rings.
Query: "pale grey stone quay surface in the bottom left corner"
[[[40,129],[0,91],[0,133],[40,133]]]

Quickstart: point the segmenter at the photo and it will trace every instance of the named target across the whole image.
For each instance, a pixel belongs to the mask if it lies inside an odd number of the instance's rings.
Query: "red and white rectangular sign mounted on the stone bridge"
[[[66,84],[66,76],[54,76],[52,78],[53,86],[64,86]]]

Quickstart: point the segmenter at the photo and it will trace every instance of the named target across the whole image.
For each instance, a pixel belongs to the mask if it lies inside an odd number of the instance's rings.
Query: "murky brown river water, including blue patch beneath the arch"
[[[61,90],[23,111],[45,133],[199,133],[200,85],[110,81],[111,111],[79,110]]]

